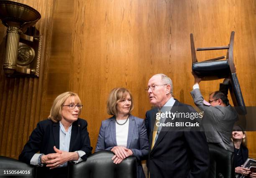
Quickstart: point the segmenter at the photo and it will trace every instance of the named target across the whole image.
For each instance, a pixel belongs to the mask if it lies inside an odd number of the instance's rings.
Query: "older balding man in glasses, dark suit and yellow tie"
[[[172,96],[172,80],[156,74],[148,81],[148,97],[155,109],[146,113],[150,152],[148,170],[150,178],[206,178],[209,151],[205,134],[191,127],[159,125],[157,113],[195,113],[195,110]],[[160,114],[161,114],[160,113]],[[174,119],[175,120],[175,119]],[[172,120],[172,123],[174,123]],[[160,119],[168,123],[170,119]]]

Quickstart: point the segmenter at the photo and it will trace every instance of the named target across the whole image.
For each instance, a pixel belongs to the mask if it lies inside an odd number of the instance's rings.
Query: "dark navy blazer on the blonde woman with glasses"
[[[31,158],[38,151],[45,155],[55,153],[53,147],[56,146],[59,149],[59,128],[59,122],[54,123],[48,119],[40,121],[19,155],[19,160],[30,164]],[[81,157],[83,160],[86,160],[87,156],[92,153],[89,133],[87,132],[87,122],[80,118],[72,123],[69,145],[69,152],[77,150],[82,150],[86,153]]]

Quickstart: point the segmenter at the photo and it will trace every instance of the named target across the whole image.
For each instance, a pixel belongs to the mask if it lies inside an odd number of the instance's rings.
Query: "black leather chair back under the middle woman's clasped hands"
[[[114,164],[111,151],[98,151],[86,161],[69,164],[69,178],[136,178],[136,158],[130,156]]]

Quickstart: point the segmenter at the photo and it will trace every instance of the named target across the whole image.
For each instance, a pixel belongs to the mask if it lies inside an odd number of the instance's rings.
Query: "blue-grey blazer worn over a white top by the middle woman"
[[[102,121],[95,152],[111,150],[114,146],[118,146],[115,134],[115,116]],[[129,119],[127,148],[132,150],[133,156],[136,156],[137,178],[145,178],[141,160],[147,159],[148,156],[148,136],[144,120],[133,115]]]

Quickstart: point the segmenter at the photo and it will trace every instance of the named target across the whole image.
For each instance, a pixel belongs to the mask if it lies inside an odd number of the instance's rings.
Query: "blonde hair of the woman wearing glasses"
[[[51,106],[51,111],[50,115],[48,117],[49,120],[52,120],[54,123],[57,123],[59,120],[62,118],[62,105],[65,103],[65,101],[70,98],[70,97],[75,97],[76,102],[81,105],[81,100],[77,93],[73,92],[65,92],[61,93],[59,96],[57,96]],[[75,104],[77,104],[75,103]],[[79,110],[78,115],[81,113],[81,110]]]

